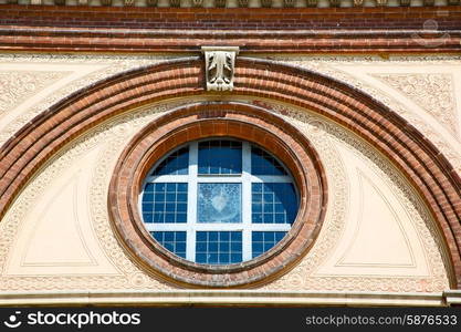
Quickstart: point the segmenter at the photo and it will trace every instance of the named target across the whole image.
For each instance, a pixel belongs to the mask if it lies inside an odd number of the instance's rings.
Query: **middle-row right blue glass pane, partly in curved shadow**
[[[297,197],[293,184],[252,184],[253,224],[293,224],[297,212]]]

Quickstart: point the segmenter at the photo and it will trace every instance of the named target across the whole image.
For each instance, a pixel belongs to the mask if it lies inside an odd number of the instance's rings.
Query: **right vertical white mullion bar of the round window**
[[[242,260],[252,258],[251,246],[251,146],[242,144]]]

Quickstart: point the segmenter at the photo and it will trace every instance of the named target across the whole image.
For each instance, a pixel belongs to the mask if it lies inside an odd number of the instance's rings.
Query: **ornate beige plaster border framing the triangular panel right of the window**
[[[449,280],[446,271],[449,270],[449,261],[446,252],[440,252],[437,242],[441,235],[432,220],[430,212],[421,201],[417,193],[410,187],[402,175],[377,154],[366,142],[355,137],[348,131],[313,114],[262,102],[274,113],[282,115],[286,121],[300,128],[312,142],[321,159],[324,162],[328,177],[328,209],[321,234],[306,257],[292,271],[279,280],[265,286],[268,290],[347,290],[347,291],[401,291],[427,292],[449,289]],[[261,102],[258,102],[261,105]],[[378,176],[398,196],[413,222],[419,239],[427,250],[427,262],[431,276],[421,277],[370,277],[370,276],[316,276],[316,268],[325,261],[328,253],[335,248],[344,222],[347,218],[349,189],[344,162],[335,145],[342,144],[348,147],[357,157],[378,174]]]

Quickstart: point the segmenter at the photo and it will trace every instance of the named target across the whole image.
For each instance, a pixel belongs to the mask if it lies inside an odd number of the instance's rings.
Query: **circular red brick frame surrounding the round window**
[[[248,141],[283,160],[300,195],[296,219],[280,242],[256,258],[224,266],[168,251],[144,227],[138,209],[145,177],[158,160],[182,144],[218,137]],[[323,224],[326,186],[317,153],[294,126],[259,106],[205,102],[177,107],[135,135],[113,173],[108,211],[118,239],[149,273],[188,287],[247,287],[273,280],[305,256]]]

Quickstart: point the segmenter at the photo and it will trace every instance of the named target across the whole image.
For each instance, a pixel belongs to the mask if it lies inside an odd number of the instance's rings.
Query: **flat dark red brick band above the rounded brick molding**
[[[149,8],[0,4],[1,25],[197,30],[422,29],[460,27],[461,6],[354,8]]]

